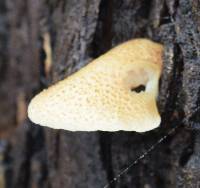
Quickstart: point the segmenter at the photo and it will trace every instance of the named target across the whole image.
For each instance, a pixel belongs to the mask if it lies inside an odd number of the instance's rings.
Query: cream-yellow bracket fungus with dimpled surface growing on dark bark
[[[161,44],[147,39],[125,42],[34,97],[28,116],[70,131],[152,130],[161,121],[156,97],[162,53]]]

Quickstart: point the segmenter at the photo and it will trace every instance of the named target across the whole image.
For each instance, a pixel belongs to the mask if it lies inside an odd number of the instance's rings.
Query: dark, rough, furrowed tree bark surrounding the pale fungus
[[[53,60],[49,73],[46,33]],[[175,126],[110,187],[199,187],[199,33],[198,0],[1,0],[0,167],[6,187],[101,188]],[[34,94],[138,37],[165,45],[159,129],[72,133],[27,120]]]

